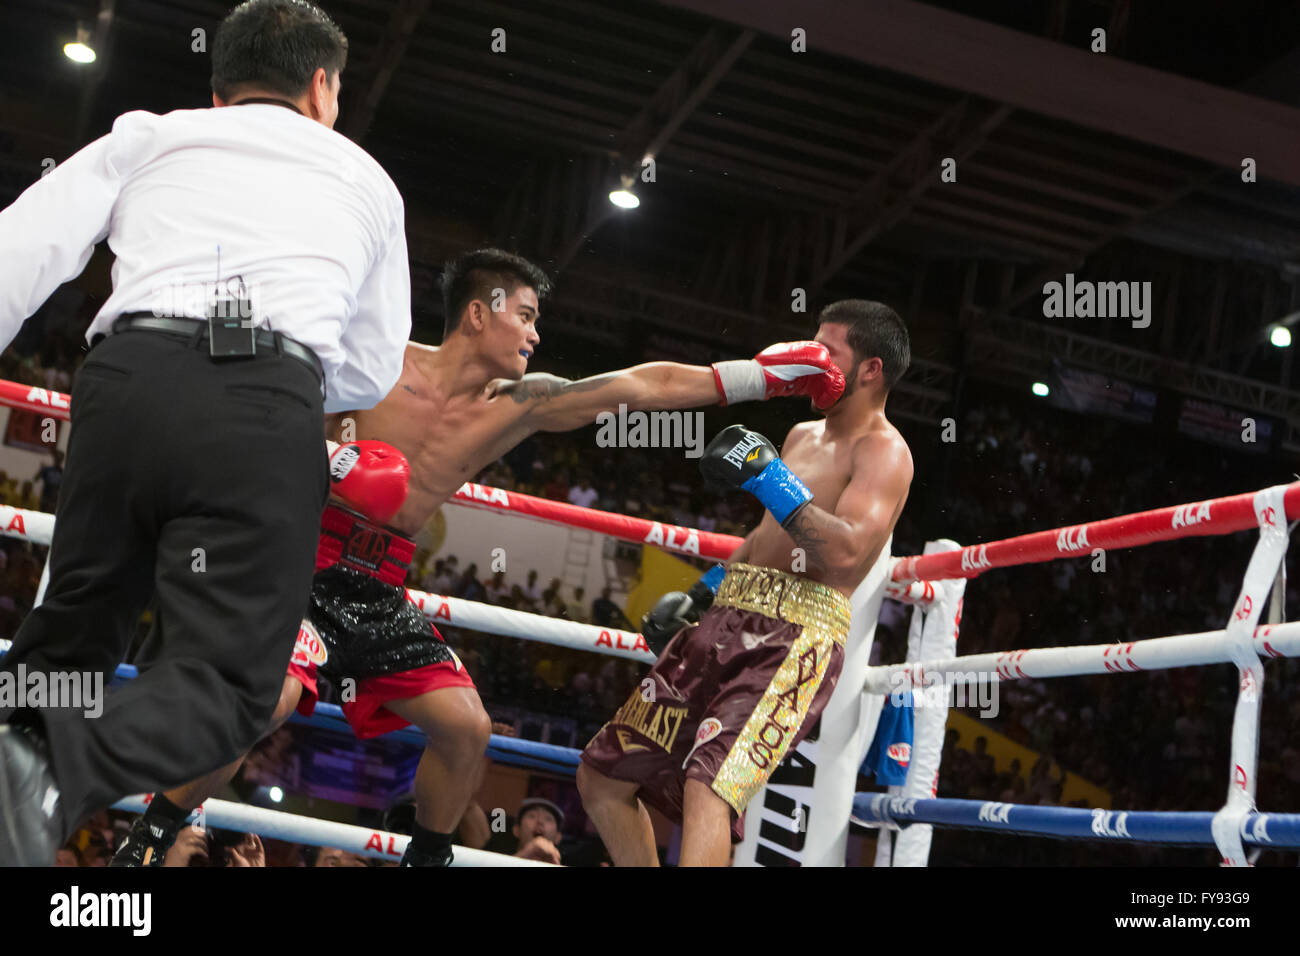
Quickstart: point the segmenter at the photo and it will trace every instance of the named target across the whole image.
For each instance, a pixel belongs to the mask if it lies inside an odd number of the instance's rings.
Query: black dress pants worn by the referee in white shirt
[[[103,711],[35,711],[66,832],[122,796],[229,763],[265,731],[311,591],[329,493],[315,373],[274,351],[124,330],[87,356],[44,604],[4,670],[103,674],[156,597],[152,656]],[[29,678],[30,680],[30,678]]]

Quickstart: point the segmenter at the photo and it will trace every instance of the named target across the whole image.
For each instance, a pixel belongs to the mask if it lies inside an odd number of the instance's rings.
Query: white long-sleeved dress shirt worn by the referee
[[[402,196],[342,134],[269,103],[124,113],[0,212],[0,349],[105,237],[113,294],[87,339],[124,312],[204,319],[214,299],[243,299],[255,326],[316,352],[326,412],[396,385],[411,334]]]

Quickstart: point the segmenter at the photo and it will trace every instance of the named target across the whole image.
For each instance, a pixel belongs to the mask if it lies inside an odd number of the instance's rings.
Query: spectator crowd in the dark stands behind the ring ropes
[[[46,362],[16,359],[10,350],[0,360],[0,377],[66,390],[70,373],[52,369],[70,363],[62,354],[51,354]],[[1256,490],[1294,477],[1275,458],[1157,434],[1153,427],[1067,414],[1006,392],[970,395],[958,416],[957,440],[946,446],[935,441],[937,429],[909,420],[896,424],[913,447],[916,480],[894,532],[894,554],[919,553],[936,537],[989,541]],[[693,481],[690,462],[666,467],[655,459],[654,467],[645,467],[655,453],[607,449],[593,455],[589,444],[584,433],[540,436],[476,480],[737,535],[759,516],[748,497],[716,494]],[[637,462],[642,467],[634,467]],[[53,459],[39,473],[0,473],[0,503],[52,510],[60,473]],[[1118,643],[1221,628],[1253,544],[1253,535],[1238,533],[1113,551],[1104,555],[1102,567],[1084,555],[988,574],[967,587],[958,652]],[[0,538],[0,637],[12,636],[30,610],[43,562],[43,549]],[[493,575],[452,554],[417,562],[408,585],[547,617],[634,627],[608,592],[585,594],[559,579],[543,581],[536,570]],[[1288,588],[1291,606],[1296,598]],[[901,607],[888,609],[874,659],[902,658],[906,622]],[[506,719],[521,732],[547,718],[568,722],[576,747],[618,709],[644,670],[634,662],[546,644],[460,628],[445,633],[494,719]],[[1258,795],[1262,808],[1286,810],[1300,804],[1300,754],[1288,732],[1300,726],[1295,689],[1300,663],[1269,662],[1266,675]],[[987,741],[961,740],[950,731],[940,796],[1058,804],[1061,777],[1069,771],[1109,791],[1118,809],[1213,810],[1223,803],[1236,698],[1228,665],[1023,680],[998,689],[998,713],[987,718],[987,726],[1028,747],[1039,760],[1000,769]],[[100,814],[74,838],[64,862],[103,864],[105,847],[121,829]],[[190,858],[200,856],[196,844],[187,847]],[[347,865],[339,862],[347,856],[341,853],[309,856],[312,862],[326,861],[318,865]],[[299,848],[272,840],[257,847],[235,840],[222,844],[220,855],[229,865],[307,860]],[[1261,862],[1294,856],[1265,853]],[[931,860],[935,865],[1093,865],[1205,864],[1213,857],[1212,849],[1069,844],[939,829]]]

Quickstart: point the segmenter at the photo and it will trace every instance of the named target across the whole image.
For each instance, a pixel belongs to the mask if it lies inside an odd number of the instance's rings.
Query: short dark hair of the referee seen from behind
[[[235,7],[212,42],[212,92],[224,100],[246,90],[302,96],[317,69],[347,65],[347,36],[307,0],[248,0]]]

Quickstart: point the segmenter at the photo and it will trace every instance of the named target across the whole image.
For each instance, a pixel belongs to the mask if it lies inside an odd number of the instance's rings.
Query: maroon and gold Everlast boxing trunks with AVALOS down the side
[[[844,665],[849,600],[805,578],[732,564],[714,605],[676,637],[582,760],[681,822],[688,778],[736,812],[826,709]]]

